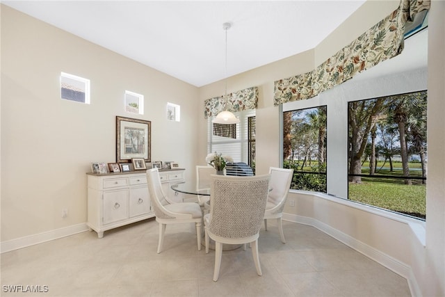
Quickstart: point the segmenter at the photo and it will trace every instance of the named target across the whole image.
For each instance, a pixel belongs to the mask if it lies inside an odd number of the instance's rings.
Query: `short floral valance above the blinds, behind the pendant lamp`
[[[245,111],[256,109],[258,105],[258,87],[238,90],[238,92],[227,94],[204,101],[204,118],[216,116],[220,111]]]

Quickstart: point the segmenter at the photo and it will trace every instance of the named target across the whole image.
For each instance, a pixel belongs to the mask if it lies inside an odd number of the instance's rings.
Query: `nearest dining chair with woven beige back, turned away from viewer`
[[[206,253],[209,239],[215,241],[213,280],[220,273],[223,243],[250,243],[257,274],[262,275],[258,237],[266,209],[270,175],[234,177],[211,175],[210,213],[204,216]]]

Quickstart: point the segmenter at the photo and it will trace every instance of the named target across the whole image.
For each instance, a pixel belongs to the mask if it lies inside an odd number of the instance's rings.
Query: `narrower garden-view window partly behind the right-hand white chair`
[[[283,168],[293,168],[291,188],[327,192],[327,106],[283,112]]]

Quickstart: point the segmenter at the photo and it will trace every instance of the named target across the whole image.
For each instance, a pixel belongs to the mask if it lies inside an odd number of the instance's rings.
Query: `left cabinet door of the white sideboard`
[[[128,188],[104,192],[104,225],[128,218]]]

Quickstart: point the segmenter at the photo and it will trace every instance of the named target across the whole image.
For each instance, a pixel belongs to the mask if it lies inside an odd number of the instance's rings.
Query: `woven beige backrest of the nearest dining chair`
[[[212,175],[209,231],[229,239],[259,232],[264,218],[270,175]]]

